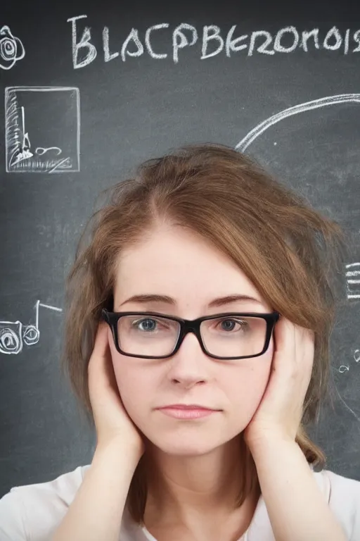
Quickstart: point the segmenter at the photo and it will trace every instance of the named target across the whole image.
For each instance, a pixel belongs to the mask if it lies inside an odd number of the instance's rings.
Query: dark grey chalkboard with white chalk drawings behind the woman
[[[98,193],[192,142],[254,156],[347,230],[337,399],[311,435],[360,480],[360,6],[288,4],[1,6],[0,495],[91,461],[60,377],[65,276]]]

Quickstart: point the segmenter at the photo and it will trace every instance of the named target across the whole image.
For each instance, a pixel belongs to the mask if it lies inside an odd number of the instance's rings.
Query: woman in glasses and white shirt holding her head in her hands
[[[93,218],[63,366],[96,451],[5,495],[1,540],[359,541],[360,483],[321,469],[306,433],[338,225],[216,144],[143,163]]]

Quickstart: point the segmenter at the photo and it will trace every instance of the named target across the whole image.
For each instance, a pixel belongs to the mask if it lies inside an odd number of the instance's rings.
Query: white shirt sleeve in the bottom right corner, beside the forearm
[[[329,506],[349,541],[360,541],[360,481],[324,472],[330,482]]]

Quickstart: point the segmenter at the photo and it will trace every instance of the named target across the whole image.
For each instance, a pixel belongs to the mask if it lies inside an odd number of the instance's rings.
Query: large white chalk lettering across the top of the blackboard
[[[72,26],[72,65],[74,69],[89,66],[98,55],[96,46],[91,41],[91,27],[84,26],[81,35],[78,33],[79,20],[86,19],[87,15],[77,15],[68,18]],[[231,26],[229,32],[224,32],[217,25],[205,25],[200,32],[193,25],[181,23],[171,30],[169,23],[161,23],[148,27],[145,36],[141,37],[137,28],[131,28],[127,37],[122,41],[119,50],[110,52],[110,29],[104,26],[102,30],[103,60],[110,62],[121,58],[123,62],[128,56],[142,56],[147,52],[151,58],[165,59],[168,53],[156,51],[155,44],[157,32],[169,35],[169,46],[172,48],[172,60],[179,62],[179,51],[200,42],[200,60],[212,58],[221,54],[230,58],[231,55],[244,51],[243,54],[288,54],[297,49],[305,53],[324,49],[326,51],[342,51],[343,54],[360,52],[360,30],[347,28],[342,32],[338,27],[331,27],[328,32],[321,32],[319,28],[311,30],[298,30],[295,26],[286,26],[272,34],[267,30],[256,30],[250,34],[236,35],[237,26]],[[200,37],[199,37],[200,33]],[[97,37],[96,37],[97,38]]]

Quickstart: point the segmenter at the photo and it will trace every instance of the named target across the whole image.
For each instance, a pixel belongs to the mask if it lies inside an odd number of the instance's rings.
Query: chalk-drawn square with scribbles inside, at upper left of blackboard
[[[80,99],[75,87],[6,87],[7,173],[80,170]]]

